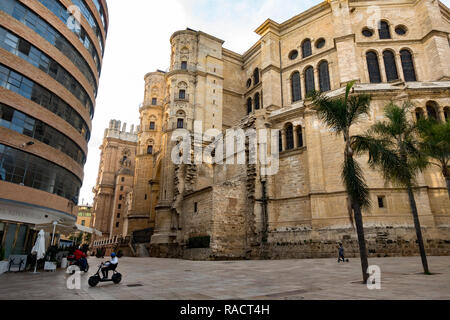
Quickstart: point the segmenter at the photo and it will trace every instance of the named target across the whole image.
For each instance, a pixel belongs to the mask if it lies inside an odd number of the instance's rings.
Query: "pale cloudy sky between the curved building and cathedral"
[[[283,22],[321,0],[107,0],[110,23],[89,142],[80,204],[92,204],[100,162],[99,147],[112,119],[139,124],[144,75],[170,64],[170,36],[187,27],[225,41],[244,53],[266,19]],[[443,1],[450,6],[450,0]]]

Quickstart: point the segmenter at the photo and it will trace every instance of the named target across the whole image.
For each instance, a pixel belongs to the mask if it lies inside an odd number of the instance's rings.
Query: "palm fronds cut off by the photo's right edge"
[[[441,169],[450,198],[450,121],[420,120],[418,127],[422,137],[420,147],[425,155],[437,161],[430,164]]]

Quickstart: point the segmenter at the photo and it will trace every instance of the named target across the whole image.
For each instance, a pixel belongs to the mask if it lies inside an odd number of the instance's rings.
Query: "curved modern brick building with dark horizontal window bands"
[[[106,0],[0,1],[0,247],[75,226],[102,58]]]

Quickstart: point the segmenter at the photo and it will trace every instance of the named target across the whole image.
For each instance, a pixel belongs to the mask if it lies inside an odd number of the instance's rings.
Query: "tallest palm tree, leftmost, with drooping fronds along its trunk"
[[[352,136],[350,128],[358,122],[362,115],[368,115],[370,110],[369,95],[350,95],[354,82],[347,84],[345,96],[330,99],[322,93],[313,93],[312,101],[317,116],[337,135],[342,134],[345,142],[344,163],[342,167],[342,180],[346,187],[350,205],[354,211],[356,232],[358,234],[359,252],[361,257],[361,268],[364,283],[369,277],[367,269],[366,241],[364,238],[364,227],[361,209],[370,206],[369,191],[365,183],[361,167],[353,158],[351,147]]]

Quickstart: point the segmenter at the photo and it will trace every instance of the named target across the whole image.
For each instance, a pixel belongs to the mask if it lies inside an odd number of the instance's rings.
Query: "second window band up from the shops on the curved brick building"
[[[3,103],[0,103],[0,127],[41,141],[67,154],[82,166],[86,163],[86,155],[72,139],[46,123]]]

